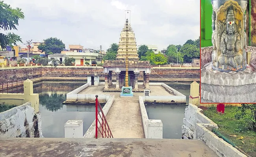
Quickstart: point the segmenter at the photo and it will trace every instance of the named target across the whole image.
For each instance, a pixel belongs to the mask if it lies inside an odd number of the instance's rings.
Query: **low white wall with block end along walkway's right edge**
[[[163,139],[162,120],[148,119],[147,110],[143,98],[139,96],[139,106],[146,139]]]

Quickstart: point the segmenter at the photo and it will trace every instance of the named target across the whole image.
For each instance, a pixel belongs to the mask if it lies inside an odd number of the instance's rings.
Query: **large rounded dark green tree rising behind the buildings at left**
[[[58,38],[48,38],[44,40],[44,43],[38,45],[38,49],[44,51],[47,55],[54,53],[61,53],[65,48],[62,40]]]

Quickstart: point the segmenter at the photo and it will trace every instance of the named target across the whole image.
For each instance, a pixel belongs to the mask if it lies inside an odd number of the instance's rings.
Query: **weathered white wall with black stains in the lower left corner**
[[[0,113],[0,137],[42,137],[41,113],[30,102]]]

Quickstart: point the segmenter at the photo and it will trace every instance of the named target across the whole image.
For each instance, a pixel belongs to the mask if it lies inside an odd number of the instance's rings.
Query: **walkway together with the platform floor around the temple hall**
[[[113,85],[111,88],[114,88]],[[142,86],[140,86],[142,88]],[[120,97],[120,92],[102,92],[104,86],[89,86],[79,94],[108,94],[115,95],[107,122],[114,138],[145,138],[139,96],[144,93],[134,93],[134,97]],[[162,86],[150,86],[150,95],[171,95]]]

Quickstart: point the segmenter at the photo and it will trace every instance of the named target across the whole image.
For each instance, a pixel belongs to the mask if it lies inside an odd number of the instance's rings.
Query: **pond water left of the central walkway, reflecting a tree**
[[[34,84],[34,93],[39,93],[39,111],[41,112],[44,137],[64,137],[64,124],[70,119],[83,120],[83,134],[91,126],[95,119],[95,111],[93,111],[95,106],[62,104],[66,100],[67,93],[85,83],[43,81]],[[67,111],[67,109],[72,111]]]

